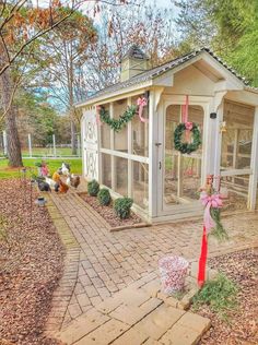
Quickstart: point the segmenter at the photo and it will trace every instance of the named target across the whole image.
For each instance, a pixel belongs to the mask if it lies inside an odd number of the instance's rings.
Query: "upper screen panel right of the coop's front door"
[[[254,114],[253,107],[228,100],[224,103],[225,131],[222,133],[222,168],[250,167]]]

